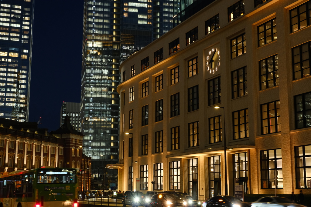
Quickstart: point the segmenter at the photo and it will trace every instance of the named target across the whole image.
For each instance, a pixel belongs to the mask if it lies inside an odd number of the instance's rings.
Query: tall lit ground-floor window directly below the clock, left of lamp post
[[[209,191],[210,197],[221,195],[221,168],[220,156],[208,158]]]

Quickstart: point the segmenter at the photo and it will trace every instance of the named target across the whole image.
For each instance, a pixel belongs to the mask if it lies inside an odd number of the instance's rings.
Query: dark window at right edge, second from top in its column
[[[294,80],[310,75],[311,41],[292,48]]]

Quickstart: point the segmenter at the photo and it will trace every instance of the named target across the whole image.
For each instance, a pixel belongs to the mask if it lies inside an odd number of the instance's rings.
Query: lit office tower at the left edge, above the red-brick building
[[[28,120],[34,0],[0,5],[0,117]]]

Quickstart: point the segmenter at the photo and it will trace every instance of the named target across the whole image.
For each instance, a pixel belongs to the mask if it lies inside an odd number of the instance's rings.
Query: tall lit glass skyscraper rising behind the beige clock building
[[[81,132],[95,177],[107,172],[105,164],[118,163],[119,64],[169,31],[172,18],[169,0],[84,2]],[[131,75],[135,72],[122,77]]]

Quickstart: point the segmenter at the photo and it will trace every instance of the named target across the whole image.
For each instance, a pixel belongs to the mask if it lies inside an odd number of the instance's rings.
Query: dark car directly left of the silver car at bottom
[[[207,201],[206,207],[251,207],[252,205],[234,196],[214,196]]]

